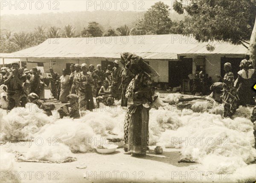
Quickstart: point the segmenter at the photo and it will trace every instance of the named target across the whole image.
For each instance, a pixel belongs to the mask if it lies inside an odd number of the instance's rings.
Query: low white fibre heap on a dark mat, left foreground
[[[32,143],[28,152],[23,155],[26,160],[63,162],[67,157],[71,157],[71,151],[68,146],[57,142],[57,140],[45,139],[40,146]]]

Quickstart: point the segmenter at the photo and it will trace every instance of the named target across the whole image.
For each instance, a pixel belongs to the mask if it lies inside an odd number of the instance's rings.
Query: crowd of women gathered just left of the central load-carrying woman
[[[47,77],[50,80],[52,96],[62,103],[67,103],[69,94],[76,94],[79,97],[79,110],[86,111],[99,107],[102,102],[107,106],[114,103],[114,99],[121,99],[121,67],[119,61],[114,61],[114,67],[108,65],[106,71],[98,64],[87,66],[86,63],[71,64],[70,74],[67,69],[62,69],[61,77],[50,68]],[[94,106],[93,97],[96,97],[97,106]]]

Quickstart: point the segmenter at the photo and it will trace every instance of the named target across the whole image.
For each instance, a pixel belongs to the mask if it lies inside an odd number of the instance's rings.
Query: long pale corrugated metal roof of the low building
[[[38,46],[1,54],[1,58],[119,58],[121,52],[132,52],[145,59],[177,60],[178,54],[245,54],[242,45],[214,41],[215,50],[207,51],[208,43],[180,34],[117,37],[51,38]]]

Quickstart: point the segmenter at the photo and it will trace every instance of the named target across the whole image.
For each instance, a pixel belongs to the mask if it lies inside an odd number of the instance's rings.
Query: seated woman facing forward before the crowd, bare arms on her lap
[[[108,85],[108,81],[103,81],[103,86],[99,90],[99,97],[96,97],[97,108],[99,103],[102,102],[105,106],[111,106],[114,103],[114,99],[111,96],[111,87]]]

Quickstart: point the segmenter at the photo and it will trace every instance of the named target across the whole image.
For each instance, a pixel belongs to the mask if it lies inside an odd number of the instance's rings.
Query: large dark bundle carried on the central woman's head
[[[125,63],[125,66],[128,67],[129,65],[136,66],[138,70],[144,71],[144,73],[148,74],[152,80],[156,79],[159,74],[156,70],[154,70],[151,66],[149,66],[142,57],[132,54],[132,53],[122,53],[121,54],[121,63]]]

